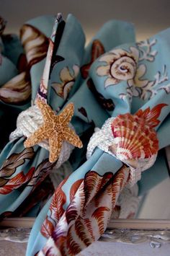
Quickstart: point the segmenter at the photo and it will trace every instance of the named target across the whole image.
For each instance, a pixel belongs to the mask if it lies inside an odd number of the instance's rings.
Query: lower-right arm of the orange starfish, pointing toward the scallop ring
[[[79,136],[71,128],[67,127],[63,130],[64,140],[68,141],[73,146],[77,146],[79,149],[82,148],[83,144]]]

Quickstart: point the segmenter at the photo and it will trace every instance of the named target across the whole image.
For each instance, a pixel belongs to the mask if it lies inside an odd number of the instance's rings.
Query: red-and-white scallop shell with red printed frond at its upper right
[[[126,164],[134,166],[138,159],[150,159],[158,152],[158,138],[154,127],[160,123],[157,119],[166,104],[159,104],[150,110],[138,110],[135,115],[118,115],[112,121],[112,134],[115,144],[109,151]]]

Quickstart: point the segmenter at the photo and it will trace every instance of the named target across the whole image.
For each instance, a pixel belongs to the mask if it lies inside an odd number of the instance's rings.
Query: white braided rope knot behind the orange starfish
[[[42,126],[43,122],[44,120],[40,108],[37,107],[37,105],[32,105],[32,107],[29,107],[19,114],[17,118],[17,128],[10,134],[9,139],[13,140],[22,136],[29,138],[32,133],[35,133],[35,131]],[[69,127],[73,129],[71,123],[69,123]],[[49,151],[48,140],[41,141],[38,145]],[[68,160],[73,149],[74,146],[72,144],[63,141],[61,154],[58,157],[55,168],[61,167],[61,164]]]

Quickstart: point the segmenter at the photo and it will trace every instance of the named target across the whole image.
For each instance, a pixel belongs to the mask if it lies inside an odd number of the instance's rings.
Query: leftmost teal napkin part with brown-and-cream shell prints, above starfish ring
[[[32,19],[22,25],[17,36],[5,33],[6,22],[0,17],[0,132],[3,134],[0,149],[14,131],[19,112],[30,106],[32,91],[37,91],[34,74],[37,79],[42,75],[37,64],[47,54],[53,20],[53,17]]]

